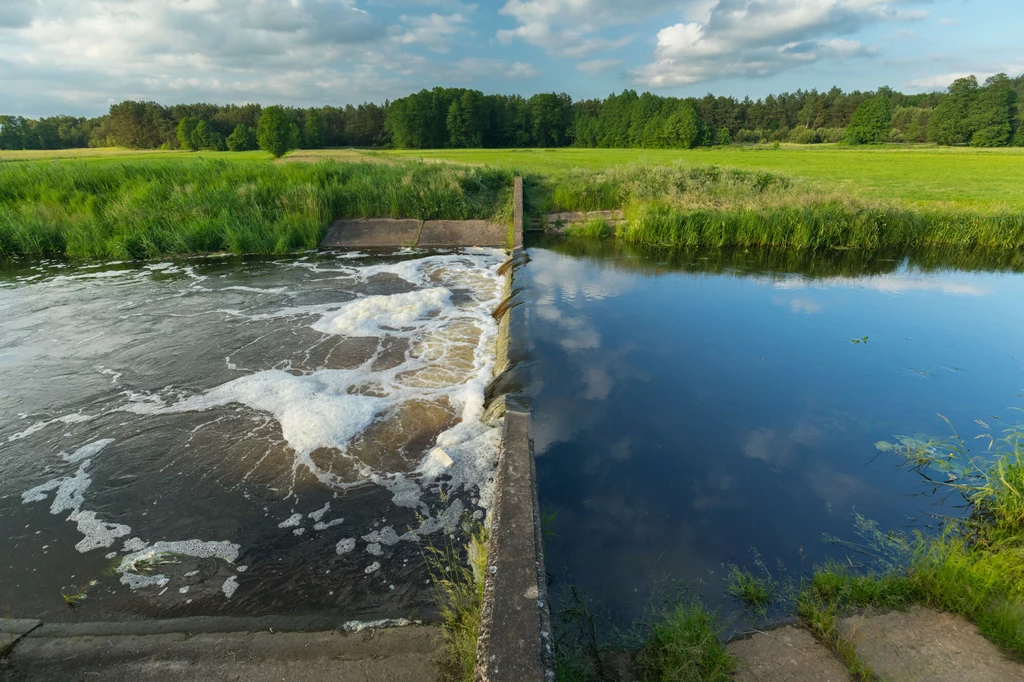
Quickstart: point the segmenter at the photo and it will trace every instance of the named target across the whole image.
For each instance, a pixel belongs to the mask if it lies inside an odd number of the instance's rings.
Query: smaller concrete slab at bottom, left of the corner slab
[[[852,678],[833,652],[796,626],[760,632],[730,642],[736,682],[847,682]]]

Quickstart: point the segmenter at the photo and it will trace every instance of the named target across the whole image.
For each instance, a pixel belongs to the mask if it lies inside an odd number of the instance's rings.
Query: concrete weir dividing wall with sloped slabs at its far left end
[[[506,298],[494,313],[500,330],[495,392],[501,392],[503,375],[513,365],[509,351],[512,319],[520,312],[513,280],[516,269],[529,260],[522,242],[522,178],[517,176],[514,182],[511,235],[506,225],[485,220],[336,220],[322,244],[342,249],[509,248],[509,259],[500,269]],[[493,399],[485,419],[503,415],[475,677],[478,682],[541,682],[553,680],[555,673],[529,413],[504,397]]]

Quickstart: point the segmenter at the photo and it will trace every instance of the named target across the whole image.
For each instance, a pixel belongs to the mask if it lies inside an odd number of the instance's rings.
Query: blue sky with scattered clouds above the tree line
[[[0,114],[435,85],[753,98],[1024,72],[1021,0],[0,0]]]

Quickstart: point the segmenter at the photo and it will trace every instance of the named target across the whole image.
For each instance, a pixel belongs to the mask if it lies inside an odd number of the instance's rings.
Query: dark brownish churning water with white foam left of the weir
[[[493,493],[501,259],[5,266],[0,612],[422,612]]]

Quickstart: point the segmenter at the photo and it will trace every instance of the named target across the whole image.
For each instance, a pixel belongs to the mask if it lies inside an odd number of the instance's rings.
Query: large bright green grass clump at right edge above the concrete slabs
[[[989,445],[972,456],[958,435],[948,440],[900,436],[879,449],[937,488],[962,496],[970,513],[947,519],[938,536],[881,534],[866,528],[881,570],[858,572],[829,563],[817,568],[798,599],[805,624],[841,655],[838,619],[851,609],[922,604],[964,615],[993,642],[1024,655],[1024,428],[979,436]],[[866,679],[866,678],[865,678]]]

